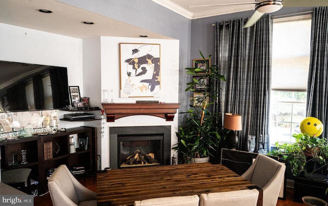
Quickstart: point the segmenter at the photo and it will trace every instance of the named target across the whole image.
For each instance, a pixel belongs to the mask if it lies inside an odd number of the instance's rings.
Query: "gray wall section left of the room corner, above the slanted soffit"
[[[178,39],[179,49],[179,111],[188,109],[189,98],[185,96],[187,75],[190,66],[191,20],[151,0],[59,0],[60,2],[89,10],[127,24]],[[188,80],[189,81],[189,80]],[[179,115],[180,116],[180,115]],[[182,118],[179,117],[179,124]]]

